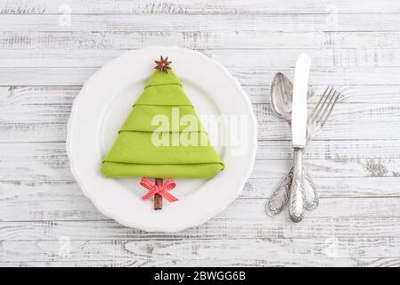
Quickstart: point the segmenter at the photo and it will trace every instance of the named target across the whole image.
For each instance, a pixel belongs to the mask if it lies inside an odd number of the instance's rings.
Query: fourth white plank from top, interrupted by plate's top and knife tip
[[[334,53],[332,50],[304,50],[305,53],[313,54],[313,65],[318,67],[333,66]],[[341,51],[343,53],[353,53],[353,50]],[[380,51],[378,51],[379,53]],[[397,51],[388,50],[385,52],[393,53],[393,61],[390,65],[396,65]],[[0,50],[0,67],[94,67],[99,68],[104,63],[118,57],[124,52],[119,50]],[[223,64],[238,67],[243,65],[252,67],[284,67],[293,66],[298,56],[298,50],[206,50],[204,51],[210,58],[214,58]],[[349,57],[354,57],[354,54],[348,54]],[[350,61],[350,60],[349,60]],[[361,63],[363,64],[363,63]],[[385,63],[382,63],[385,64]],[[371,65],[370,65],[371,66]],[[383,65],[385,66],[385,65]]]

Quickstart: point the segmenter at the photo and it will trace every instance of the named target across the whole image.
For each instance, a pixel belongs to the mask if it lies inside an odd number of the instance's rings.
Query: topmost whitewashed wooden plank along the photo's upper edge
[[[394,1],[262,1],[253,0],[251,4],[244,0],[151,0],[135,2],[128,0],[7,0],[0,5],[0,13],[30,14],[30,13],[170,13],[170,14],[258,14],[258,13],[398,13],[400,9]]]

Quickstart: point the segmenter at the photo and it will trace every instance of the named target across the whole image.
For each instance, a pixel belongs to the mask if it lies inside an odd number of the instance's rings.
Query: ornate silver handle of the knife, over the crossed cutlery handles
[[[303,180],[303,149],[294,148],[293,151],[293,180],[290,185],[289,216],[293,222],[301,222],[303,212],[303,191],[301,189]]]

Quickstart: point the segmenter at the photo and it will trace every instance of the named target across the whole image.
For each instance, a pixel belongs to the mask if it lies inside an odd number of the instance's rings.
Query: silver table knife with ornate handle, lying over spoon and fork
[[[311,59],[306,53],[298,56],[293,84],[291,113],[291,141],[293,145],[293,180],[290,185],[289,216],[292,221],[300,222],[304,217],[303,192],[303,150],[306,147],[307,129],[307,86]]]

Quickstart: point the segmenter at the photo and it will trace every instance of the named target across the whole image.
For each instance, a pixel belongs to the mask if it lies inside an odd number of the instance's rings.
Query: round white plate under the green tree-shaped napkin
[[[153,61],[161,54],[173,61],[171,66],[200,118],[229,115],[233,120],[240,118],[243,125],[241,134],[236,134],[239,123],[223,120],[224,139],[230,137],[228,134],[241,138],[240,146],[232,139],[215,146],[225,164],[223,171],[210,180],[176,179],[176,189],[171,193],[180,200],[164,200],[163,209],[155,211],[152,199],[141,199],[146,190],[139,184],[139,177],[105,178],[100,166],[118,129],[142,94]],[[218,141],[212,132],[209,135],[211,142]],[[223,211],[249,178],[256,152],[257,120],[239,82],[220,63],[202,53],[177,47],[151,46],[125,53],[104,65],[78,94],[68,124],[69,163],[82,191],[103,215],[144,231],[181,231],[205,223]]]

